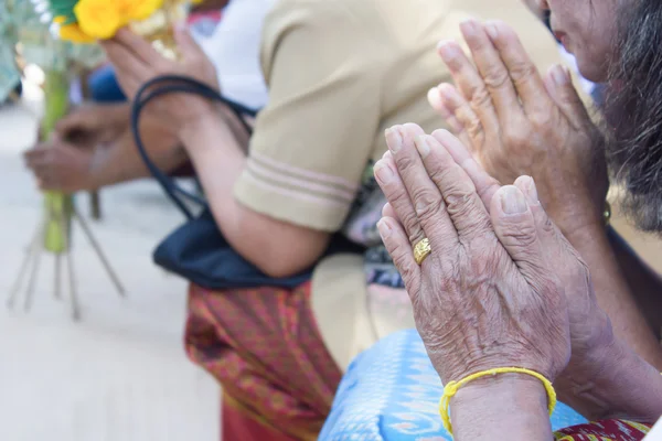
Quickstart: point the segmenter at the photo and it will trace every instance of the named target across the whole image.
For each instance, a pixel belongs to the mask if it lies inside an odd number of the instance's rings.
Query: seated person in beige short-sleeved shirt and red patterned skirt
[[[349,359],[413,325],[376,232],[384,195],[373,164],[386,151],[383,130],[395,121],[437,126],[426,94],[450,76],[434,49],[457,36],[471,14],[514,20],[536,64],[559,62],[544,25],[520,0],[504,1],[423,0],[408,8],[395,0],[280,0],[263,30],[269,101],[249,141],[231,115],[197,97],[168,97],[149,109],[183,146],[239,255],[275,278],[316,268],[295,290],[191,287],[188,351],[223,385],[224,427],[248,416],[258,421],[255,430],[268,432],[225,431],[225,439],[313,439]],[[215,83],[190,36],[179,40],[181,63],[162,60],[129,32],[103,44],[128,96],[167,73]],[[366,247],[365,257],[319,261],[337,232]]]

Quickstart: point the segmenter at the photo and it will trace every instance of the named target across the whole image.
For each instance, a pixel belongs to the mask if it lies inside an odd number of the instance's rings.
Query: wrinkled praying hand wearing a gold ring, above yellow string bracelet
[[[545,249],[558,236],[531,179],[501,187],[447,131],[395,127],[387,142],[375,165],[388,201],[380,232],[441,379],[516,366],[554,380],[570,357],[566,290],[590,286],[569,250],[560,257],[573,273],[552,269]],[[419,267],[413,246],[424,237],[433,252]]]

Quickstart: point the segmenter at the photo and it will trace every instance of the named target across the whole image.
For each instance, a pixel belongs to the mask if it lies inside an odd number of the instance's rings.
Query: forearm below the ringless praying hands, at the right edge
[[[609,315],[616,336],[662,368],[660,343],[637,304],[605,228],[596,225],[564,233],[588,265],[598,303]]]

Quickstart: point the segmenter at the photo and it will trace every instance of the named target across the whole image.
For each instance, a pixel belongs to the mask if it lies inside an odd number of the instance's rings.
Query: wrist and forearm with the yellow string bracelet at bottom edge
[[[553,440],[543,384],[522,374],[502,374],[470,383],[450,402],[458,441]]]

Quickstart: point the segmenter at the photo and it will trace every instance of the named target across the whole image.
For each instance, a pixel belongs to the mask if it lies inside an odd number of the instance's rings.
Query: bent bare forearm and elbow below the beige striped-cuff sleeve
[[[308,269],[322,255],[329,235],[274,219],[235,200],[234,186],[246,168],[247,148],[231,127],[218,116],[210,116],[182,130],[180,137],[216,224],[239,255],[269,276],[287,277]]]

